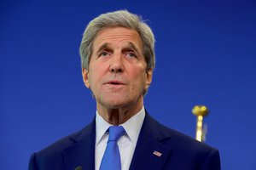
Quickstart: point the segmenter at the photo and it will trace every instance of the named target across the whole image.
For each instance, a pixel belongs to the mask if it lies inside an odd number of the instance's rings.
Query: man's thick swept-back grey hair
[[[147,63],[147,70],[154,70],[154,34],[140,16],[131,14],[127,10],[118,10],[101,14],[90,21],[84,31],[82,42],[80,44],[79,52],[82,68],[89,70],[92,44],[96,38],[97,32],[104,27],[110,26],[121,26],[137,31],[143,42],[143,55]]]

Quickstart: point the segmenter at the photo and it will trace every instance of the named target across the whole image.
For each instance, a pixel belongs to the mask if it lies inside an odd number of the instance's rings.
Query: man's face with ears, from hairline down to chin
[[[93,42],[89,71],[83,70],[84,84],[95,95],[97,109],[141,107],[152,80],[152,71],[146,68],[137,31],[106,27]]]

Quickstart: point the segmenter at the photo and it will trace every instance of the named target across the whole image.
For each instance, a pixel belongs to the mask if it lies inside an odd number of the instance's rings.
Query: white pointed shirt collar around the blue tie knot
[[[125,128],[125,133],[128,135],[131,142],[136,142],[138,139],[138,135],[143,126],[143,121],[145,118],[145,109],[144,106],[141,111],[132,116],[129,120],[120,124],[119,126],[123,126]],[[108,130],[108,127],[113,126],[110,123],[106,122],[102,116],[96,111],[96,144],[100,142],[103,135]]]

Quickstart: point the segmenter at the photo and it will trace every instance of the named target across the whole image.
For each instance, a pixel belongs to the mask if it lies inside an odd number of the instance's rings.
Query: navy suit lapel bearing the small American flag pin
[[[171,138],[170,133],[146,112],[137,146],[131,161],[133,169],[162,169],[171,150],[161,140]]]

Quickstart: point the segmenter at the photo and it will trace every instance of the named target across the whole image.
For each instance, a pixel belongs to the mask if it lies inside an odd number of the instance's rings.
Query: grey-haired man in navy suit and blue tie
[[[33,154],[29,169],[220,169],[218,150],[161,125],[144,109],[154,70],[154,34],[137,15],[120,10],[91,20],[80,55],[96,117]]]

